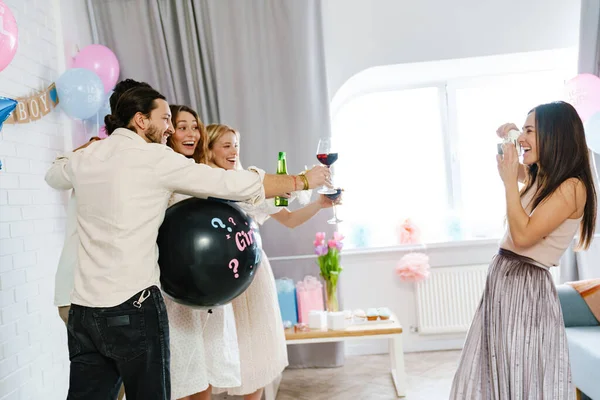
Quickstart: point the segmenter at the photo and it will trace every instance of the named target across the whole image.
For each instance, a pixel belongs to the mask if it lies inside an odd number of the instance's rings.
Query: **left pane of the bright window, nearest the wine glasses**
[[[340,215],[355,246],[393,245],[408,217],[432,237],[442,234],[436,221],[448,191],[439,105],[437,87],[375,92],[349,101],[333,121],[341,136],[335,183],[347,188]]]

